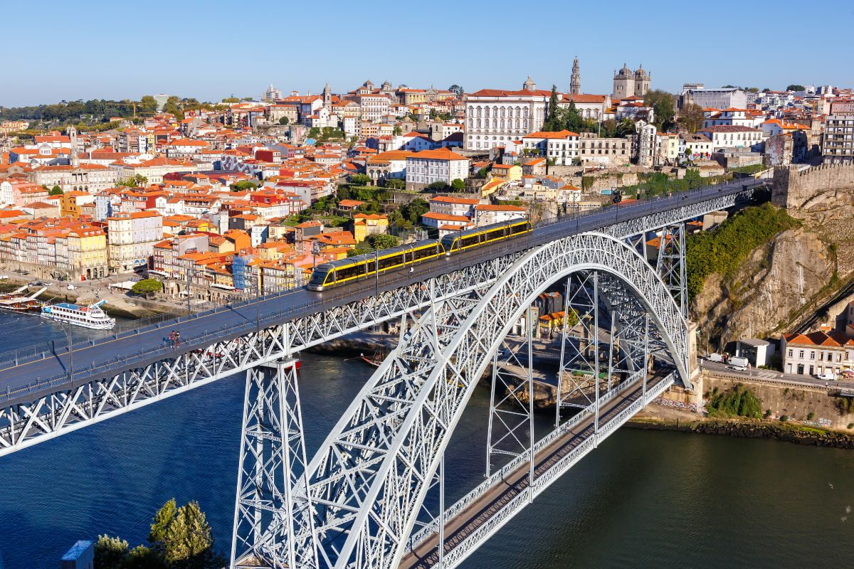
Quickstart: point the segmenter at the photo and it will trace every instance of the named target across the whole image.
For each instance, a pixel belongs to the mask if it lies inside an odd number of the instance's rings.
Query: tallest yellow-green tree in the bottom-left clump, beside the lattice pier
[[[213,535],[198,502],[178,508],[167,526],[163,540],[163,560],[173,569],[208,569],[217,560],[213,552]]]

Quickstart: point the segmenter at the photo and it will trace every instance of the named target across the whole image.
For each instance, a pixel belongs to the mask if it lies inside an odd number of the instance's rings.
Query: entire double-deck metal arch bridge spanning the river
[[[675,380],[690,386],[683,224],[762,184],[611,206],[415,275],[380,277],[372,289],[276,295],[0,355],[0,455],[248,370],[232,566],[456,566],[646,402]],[[637,251],[652,230],[664,242],[654,267]],[[535,296],[563,279],[579,323],[573,334],[564,326],[555,429],[534,441],[530,343],[527,374],[499,361],[500,345]],[[401,318],[400,344],[307,462],[290,355],[391,318]],[[163,345],[164,328],[180,329],[181,351]],[[672,369],[652,373],[653,355]],[[512,358],[521,363],[502,357]],[[442,453],[488,367],[488,479],[445,508]],[[562,421],[566,409],[578,413]],[[509,460],[496,473],[493,456]],[[436,489],[439,511],[425,514]]]

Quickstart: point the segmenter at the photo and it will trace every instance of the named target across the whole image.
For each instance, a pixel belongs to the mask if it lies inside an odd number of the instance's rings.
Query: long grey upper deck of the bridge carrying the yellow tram
[[[399,271],[380,276],[375,285],[379,291],[390,290],[416,282],[424,282],[452,270],[483,263],[510,253],[523,251],[542,243],[569,235],[605,228],[618,222],[643,218],[681,206],[713,198],[738,194],[761,182],[747,179],[695,189],[658,200],[633,202],[626,206],[611,206],[582,216],[559,218],[552,224],[537,226],[529,235],[436,259],[418,267],[414,273]],[[649,229],[652,229],[649,228]],[[181,352],[204,347],[218,340],[229,340],[253,331],[288,322],[301,316],[325,311],[371,296],[375,287],[371,280],[334,288],[323,293],[298,289],[290,293],[261,297],[244,303],[221,307],[176,321],[114,334],[102,340],[73,348],[73,380],[75,385],[91,377],[109,377],[126,369],[174,357]],[[169,330],[181,333],[182,347],[175,350],[165,345]],[[26,356],[0,355],[0,404],[32,401],[38,395],[57,392],[70,386],[67,381],[69,356],[65,349],[36,351]]]

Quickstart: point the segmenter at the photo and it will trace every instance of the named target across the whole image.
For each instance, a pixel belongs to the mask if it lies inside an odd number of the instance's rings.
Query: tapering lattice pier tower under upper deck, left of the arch
[[[297,563],[291,546],[295,534],[313,533],[296,360],[250,369],[243,402],[231,566],[248,559],[273,569],[317,566],[314,549]]]

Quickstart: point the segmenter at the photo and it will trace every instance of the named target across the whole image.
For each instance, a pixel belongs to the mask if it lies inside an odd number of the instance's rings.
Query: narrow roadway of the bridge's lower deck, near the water
[[[646,386],[655,386],[661,379],[661,376],[652,375],[647,379]],[[600,409],[600,429],[641,396],[642,388],[639,382],[626,386],[619,397],[611,399]],[[539,479],[549,468],[557,464],[571,450],[584,443],[593,434],[594,417],[591,415],[571,428],[563,437],[558,438],[553,444],[537,453],[534,479]],[[495,485],[484,492],[483,496],[465,508],[459,515],[447,520],[445,522],[444,554],[449,554],[466,537],[477,531],[478,527],[498,514],[508,502],[527,491],[528,473],[529,463],[524,462],[522,466],[508,474],[499,485]],[[436,566],[439,561],[437,543],[439,543],[439,535],[434,532],[404,556],[401,560],[401,569],[424,569],[425,567]]]

